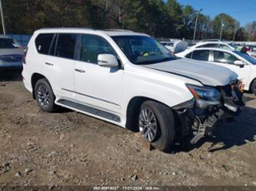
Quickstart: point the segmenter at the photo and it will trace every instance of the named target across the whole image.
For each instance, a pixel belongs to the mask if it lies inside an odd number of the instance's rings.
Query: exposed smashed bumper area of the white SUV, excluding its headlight
[[[192,99],[172,107],[179,117],[181,137],[192,134],[191,143],[197,143],[201,137],[210,135],[218,122],[231,120],[241,113],[243,93],[238,87],[228,84],[217,89],[221,93],[218,103]]]

